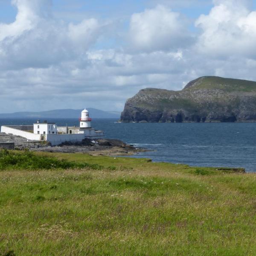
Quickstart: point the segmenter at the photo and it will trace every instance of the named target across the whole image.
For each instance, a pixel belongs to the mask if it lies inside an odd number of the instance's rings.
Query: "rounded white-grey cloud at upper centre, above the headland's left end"
[[[186,23],[179,13],[162,5],[135,13],[129,30],[132,47],[145,52],[185,47],[192,41]]]

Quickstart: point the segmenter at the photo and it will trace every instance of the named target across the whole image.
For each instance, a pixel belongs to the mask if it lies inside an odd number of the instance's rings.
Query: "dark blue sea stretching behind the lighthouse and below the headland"
[[[34,119],[0,119],[0,125],[32,124]],[[48,119],[59,126],[79,125],[77,119]],[[116,123],[93,119],[106,138],[120,139],[151,151],[135,157],[191,166],[244,167],[256,172],[256,123]]]

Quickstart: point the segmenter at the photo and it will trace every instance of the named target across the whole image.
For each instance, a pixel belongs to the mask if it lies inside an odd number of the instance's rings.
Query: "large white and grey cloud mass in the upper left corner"
[[[80,23],[55,20],[49,0],[13,0],[17,16],[0,24],[0,69],[49,67],[79,58],[97,41],[104,24],[90,18]]]

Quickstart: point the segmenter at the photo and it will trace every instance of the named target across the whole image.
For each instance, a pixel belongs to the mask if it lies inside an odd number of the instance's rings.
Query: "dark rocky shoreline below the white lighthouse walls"
[[[89,153],[91,155],[132,155],[145,149],[137,149],[116,139],[84,139],[81,143],[62,143],[51,146],[45,141],[29,141],[13,134],[0,133],[0,143],[12,142],[14,149],[58,153]]]

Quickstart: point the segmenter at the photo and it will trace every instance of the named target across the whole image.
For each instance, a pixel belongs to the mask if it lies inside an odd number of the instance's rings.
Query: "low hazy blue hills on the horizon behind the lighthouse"
[[[102,111],[96,108],[87,108],[92,118],[120,118],[118,111]],[[15,112],[0,114],[0,118],[79,118],[82,109],[56,109],[41,112]]]

